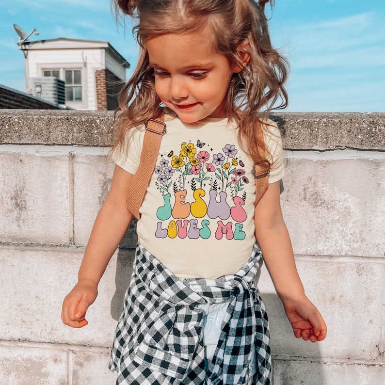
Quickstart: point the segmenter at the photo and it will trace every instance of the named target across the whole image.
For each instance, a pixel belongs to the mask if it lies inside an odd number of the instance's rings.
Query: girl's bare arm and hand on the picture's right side
[[[282,217],[279,182],[269,187],[255,209],[258,245],[274,287],[285,307],[295,337],[322,341],[326,324],[321,313],[309,301],[295,266],[288,229]]]

